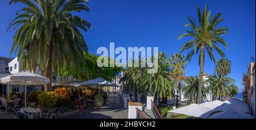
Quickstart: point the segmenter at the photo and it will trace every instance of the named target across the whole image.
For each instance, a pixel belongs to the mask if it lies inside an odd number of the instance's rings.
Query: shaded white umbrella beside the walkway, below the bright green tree
[[[95,78],[89,81],[77,83],[76,85],[88,85],[88,86],[98,86],[98,91],[100,93],[100,87],[101,86],[111,86],[111,87],[118,87],[118,85],[115,85],[115,83],[107,81],[103,78]]]

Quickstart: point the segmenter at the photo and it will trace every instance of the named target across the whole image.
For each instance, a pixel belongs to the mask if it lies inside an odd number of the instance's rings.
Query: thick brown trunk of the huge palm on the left
[[[45,59],[44,76],[49,78],[51,82],[44,85],[44,91],[52,91],[52,45],[46,45]]]

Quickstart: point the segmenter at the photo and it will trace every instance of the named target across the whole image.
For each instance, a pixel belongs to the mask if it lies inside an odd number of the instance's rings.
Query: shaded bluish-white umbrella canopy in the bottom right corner
[[[236,111],[222,111],[209,116],[209,119],[254,119],[250,114]]]

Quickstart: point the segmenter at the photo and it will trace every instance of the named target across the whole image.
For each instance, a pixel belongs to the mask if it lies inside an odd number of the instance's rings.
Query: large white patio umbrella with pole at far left
[[[1,83],[8,83],[9,85],[25,85],[24,91],[24,107],[26,107],[26,93],[27,93],[27,85],[44,85],[50,81],[49,78],[40,76],[31,72],[20,72],[13,74],[11,76],[0,78]]]

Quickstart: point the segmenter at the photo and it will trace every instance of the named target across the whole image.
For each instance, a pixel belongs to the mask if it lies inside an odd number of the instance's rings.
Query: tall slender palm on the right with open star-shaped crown
[[[197,7],[197,15],[199,19],[199,26],[197,25],[195,19],[192,16],[188,16],[190,24],[186,23],[185,27],[190,27],[191,30],[187,30],[186,33],[183,33],[179,36],[178,39],[184,36],[190,36],[193,40],[188,41],[181,48],[181,52],[192,48],[192,50],[187,55],[187,60],[191,60],[192,56],[200,51],[199,56],[199,65],[200,65],[200,75],[199,75],[199,96],[197,97],[197,103],[201,103],[201,89],[203,87],[203,73],[204,73],[204,58],[205,58],[205,49],[210,57],[210,60],[213,60],[215,63],[215,58],[213,54],[213,49],[215,49],[222,57],[225,57],[224,53],[218,48],[218,43],[224,45],[228,49],[226,41],[222,39],[222,35],[228,33],[228,28],[219,27],[217,25],[224,20],[220,18],[221,13],[218,13],[213,16],[210,20],[210,15],[212,11],[208,12],[208,5],[205,6],[202,14]]]

